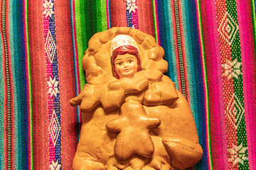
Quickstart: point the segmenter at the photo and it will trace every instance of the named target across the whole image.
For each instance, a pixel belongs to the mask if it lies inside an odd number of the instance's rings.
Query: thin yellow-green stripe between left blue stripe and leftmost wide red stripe
[[[32,106],[32,84],[31,84],[31,58],[30,58],[30,49],[29,49],[29,36],[28,36],[28,0],[25,1],[25,20],[26,20],[26,53],[27,53],[27,64],[28,64],[28,68],[27,68],[27,72],[28,72],[28,90],[29,90],[29,122],[30,122],[30,129],[28,130],[30,133],[30,139],[29,139],[29,143],[30,143],[30,148],[28,148],[31,151],[31,155],[30,155],[30,159],[31,162],[28,162],[28,164],[31,164],[31,169],[34,169],[33,166],[33,106]]]

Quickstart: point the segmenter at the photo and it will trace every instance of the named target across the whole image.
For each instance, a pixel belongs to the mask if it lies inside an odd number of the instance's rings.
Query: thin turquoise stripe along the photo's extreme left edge
[[[1,37],[0,32],[0,37]],[[3,44],[0,41],[0,61],[3,62]],[[4,70],[0,64],[0,169],[4,169]]]

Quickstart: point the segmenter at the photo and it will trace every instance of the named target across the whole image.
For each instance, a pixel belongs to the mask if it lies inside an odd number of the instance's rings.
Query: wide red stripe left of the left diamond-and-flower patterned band
[[[48,87],[43,38],[43,1],[28,1],[29,47],[33,101],[33,154],[35,169],[49,167]]]

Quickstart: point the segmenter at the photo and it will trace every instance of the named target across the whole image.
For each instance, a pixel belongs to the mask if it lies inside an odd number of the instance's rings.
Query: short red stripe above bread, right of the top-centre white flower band
[[[152,11],[152,1],[140,0],[137,1],[139,30],[148,33],[154,37],[154,18]]]

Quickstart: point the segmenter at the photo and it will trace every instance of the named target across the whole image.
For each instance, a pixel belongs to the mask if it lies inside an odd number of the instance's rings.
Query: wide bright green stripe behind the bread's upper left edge
[[[85,85],[82,57],[88,42],[95,33],[107,30],[107,7],[105,1],[75,0],[75,28],[78,45],[80,89]]]

